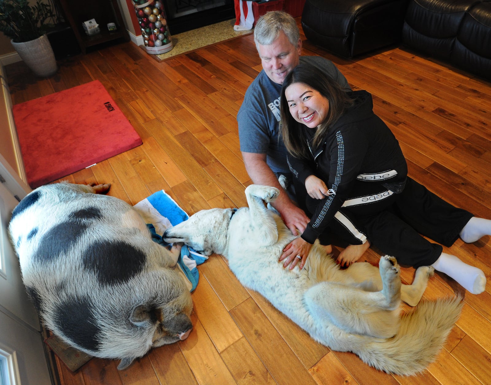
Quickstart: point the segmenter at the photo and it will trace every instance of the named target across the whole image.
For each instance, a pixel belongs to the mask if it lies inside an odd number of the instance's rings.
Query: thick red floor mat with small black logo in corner
[[[16,104],[13,113],[32,188],[142,144],[99,80]]]

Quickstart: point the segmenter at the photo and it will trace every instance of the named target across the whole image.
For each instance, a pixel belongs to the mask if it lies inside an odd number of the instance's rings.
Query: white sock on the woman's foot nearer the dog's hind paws
[[[432,266],[435,270],[453,278],[472,294],[481,294],[486,289],[486,276],[483,271],[464,263],[455,256],[441,253]]]

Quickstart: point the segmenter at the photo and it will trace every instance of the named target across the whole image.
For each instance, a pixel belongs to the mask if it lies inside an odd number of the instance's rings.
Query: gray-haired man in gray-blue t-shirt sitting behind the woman
[[[278,176],[290,174],[286,149],[278,135],[279,98],[286,75],[305,61],[326,71],[347,91],[351,88],[331,61],[320,56],[300,57],[300,32],[295,20],[285,12],[262,16],[254,29],[254,41],[263,70],[247,88],[237,114],[241,152],[253,183],[281,189]],[[287,194],[280,194],[273,206],[294,234],[297,229],[305,230],[309,218]]]

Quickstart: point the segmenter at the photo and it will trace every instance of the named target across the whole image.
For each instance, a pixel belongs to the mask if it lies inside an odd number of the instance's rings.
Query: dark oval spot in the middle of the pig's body
[[[97,275],[101,284],[128,281],[143,269],[145,260],[145,254],[121,241],[96,242],[82,255],[83,265]]]

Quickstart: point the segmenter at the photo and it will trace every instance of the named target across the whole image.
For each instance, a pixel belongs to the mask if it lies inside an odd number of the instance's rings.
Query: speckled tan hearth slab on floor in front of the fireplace
[[[172,50],[152,56],[158,61],[163,61],[170,57],[180,55],[181,53],[195,51],[199,48],[235,39],[236,37],[248,35],[253,32],[252,29],[235,31],[234,24],[235,19],[225,20],[224,22],[192,29],[191,31],[178,33],[176,35],[172,35],[172,31],[170,31],[173,45]]]

